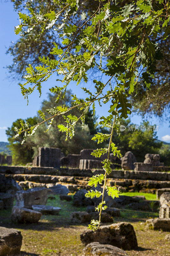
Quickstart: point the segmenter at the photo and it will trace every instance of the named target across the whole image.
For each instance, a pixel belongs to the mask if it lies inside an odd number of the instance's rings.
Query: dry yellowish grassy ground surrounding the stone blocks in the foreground
[[[37,224],[11,223],[11,211],[0,211],[0,225],[17,228],[23,236],[21,253],[18,256],[79,256],[84,248],[80,234],[87,230],[85,225],[73,225],[70,212],[85,211],[85,208],[73,207],[71,202],[48,200],[49,205],[62,208],[59,215],[43,215]],[[170,255],[170,241],[165,240],[168,232],[147,229],[145,220],[149,216],[122,213],[114,222],[130,222],[136,232],[138,249],[126,251],[129,256],[165,256]],[[150,217],[155,217],[151,213]],[[111,223],[108,223],[111,224]]]

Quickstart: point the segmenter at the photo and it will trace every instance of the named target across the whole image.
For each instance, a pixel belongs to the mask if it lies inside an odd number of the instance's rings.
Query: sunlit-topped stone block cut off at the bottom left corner
[[[14,255],[20,252],[21,232],[14,228],[0,227],[0,256]]]

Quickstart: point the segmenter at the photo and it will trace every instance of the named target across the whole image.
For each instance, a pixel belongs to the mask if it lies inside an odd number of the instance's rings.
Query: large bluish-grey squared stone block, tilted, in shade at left
[[[25,191],[17,192],[17,207],[32,207],[33,204],[46,204],[49,194],[48,188],[30,188]]]

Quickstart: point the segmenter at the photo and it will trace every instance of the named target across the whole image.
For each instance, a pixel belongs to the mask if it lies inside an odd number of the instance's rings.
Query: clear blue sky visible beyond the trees
[[[13,11],[13,6],[10,1],[0,1],[0,141],[7,141],[5,130],[7,127],[12,125],[17,118],[27,118],[35,116],[37,110],[41,107],[42,100],[47,98],[48,89],[50,86],[58,85],[55,81],[55,76],[51,77],[42,86],[42,95],[39,98],[39,94],[35,91],[29,97],[29,104],[27,106],[26,100],[24,100],[20,88],[18,86],[18,80],[11,81],[8,78],[8,70],[5,67],[11,63],[11,56],[6,55],[6,49],[8,48],[11,41],[15,42],[19,36],[14,34],[14,26],[18,25],[18,14]],[[103,78],[103,81],[107,81]],[[86,84],[81,84],[81,87],[85,87]],[[84,97],[80,86],[75,83],[70,84],[69,88],[74,94],[79,97]],[[92,81],[87,84],[89,89],[92,89]],[[97,115],[106,115],[108,105],[100,108],[96,107]],[[140,124],[142,118],[137,115],[131,116],[131,121],[135,124]],[[170,142],[170,127],[168,122],[160,121],[159,119],[149,119],[151,125],[159,125],[157,132],[158,139],[166,142]]]

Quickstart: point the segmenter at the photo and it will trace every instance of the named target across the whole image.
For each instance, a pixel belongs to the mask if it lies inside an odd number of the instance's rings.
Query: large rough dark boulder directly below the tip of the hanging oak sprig
[[[84,231],[80,235],[84,245],[91,242],[111,244],[124,250],[137,248],[137,238],[133,226],[127,222],[119,222],[107,226],[101,226],[95,231]]]

